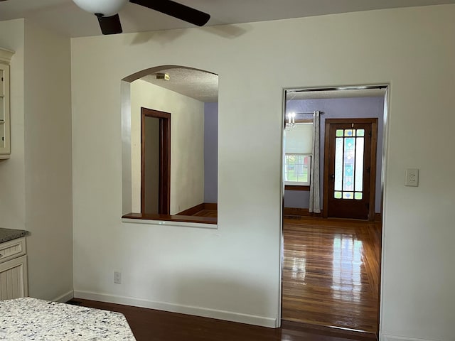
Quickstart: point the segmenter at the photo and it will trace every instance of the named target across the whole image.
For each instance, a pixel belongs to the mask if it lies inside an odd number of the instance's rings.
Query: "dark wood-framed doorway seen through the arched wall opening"
[[[168,215],[171,207],[171,114],[141,108],[141,213]]]

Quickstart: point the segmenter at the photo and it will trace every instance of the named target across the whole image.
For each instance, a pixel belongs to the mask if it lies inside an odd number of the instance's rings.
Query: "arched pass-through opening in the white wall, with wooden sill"
[[[164,65],[122,80],[124,220],[217,224],[218,75]]]

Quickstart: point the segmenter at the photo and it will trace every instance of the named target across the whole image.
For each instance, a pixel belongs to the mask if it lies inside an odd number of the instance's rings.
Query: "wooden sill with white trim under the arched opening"
[[[218,218],[194,217],[191,215],[143,215],[141,213],[129,213],[122,217],[122,222],[218,229]]]

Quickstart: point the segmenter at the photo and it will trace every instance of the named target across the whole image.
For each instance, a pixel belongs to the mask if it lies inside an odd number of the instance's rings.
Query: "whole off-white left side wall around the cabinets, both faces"
[[[0,227],[31,232],[30,296],[60,298],[73,290],[70,42],[21,19],[0,22],[0,45],[16,51]]]

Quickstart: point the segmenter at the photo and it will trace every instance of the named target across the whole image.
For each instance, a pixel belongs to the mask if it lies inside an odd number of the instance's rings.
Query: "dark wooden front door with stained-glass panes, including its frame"
[[[326,119],[325,217],[374,220],[378,119]]]

